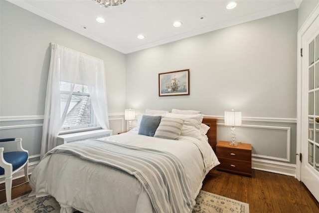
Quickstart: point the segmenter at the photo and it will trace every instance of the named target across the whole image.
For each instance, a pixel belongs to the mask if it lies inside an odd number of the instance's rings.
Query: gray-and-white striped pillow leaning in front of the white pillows
[[[154,137],[178,140],[184,121],[179,118],[162,118]]]

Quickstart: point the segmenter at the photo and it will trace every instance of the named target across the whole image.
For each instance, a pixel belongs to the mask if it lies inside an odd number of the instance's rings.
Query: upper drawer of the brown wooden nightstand
[[[240,161],[251,161],[251,150],[216,147],[218,158],[228,158]]]

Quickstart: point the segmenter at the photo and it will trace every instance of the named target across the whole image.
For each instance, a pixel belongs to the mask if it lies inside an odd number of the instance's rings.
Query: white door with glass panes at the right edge
[[[319,15],[302,35],[301,181],[319,201]]]

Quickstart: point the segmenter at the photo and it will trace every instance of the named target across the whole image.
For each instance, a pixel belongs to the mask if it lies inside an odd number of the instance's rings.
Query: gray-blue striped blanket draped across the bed
[[[44,158],[53,153],[71,154],[135,176],[157,213],[190,213],[195,205],[182,165],[170,153],[99,140],[64,144]]]

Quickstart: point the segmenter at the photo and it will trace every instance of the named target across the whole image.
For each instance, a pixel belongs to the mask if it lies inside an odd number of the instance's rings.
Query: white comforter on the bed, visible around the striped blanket
[[[102,140],[172,153],[185,169],[193,199],[205,175],[219,164],[204,138],[166,140],[131,131]],[[30,196],[53,196],[61,213],[74,209],[83,213],[154,213],[147,192],[135,177],[70,155],[52,154],[43,159],[31,175],[30,186]]]

